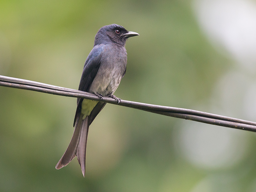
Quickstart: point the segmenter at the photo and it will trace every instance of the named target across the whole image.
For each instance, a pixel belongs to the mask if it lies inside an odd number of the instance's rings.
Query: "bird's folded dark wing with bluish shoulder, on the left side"
[[[92,51],[89,53],[85,64],[83,73],[81,76],[80,84],[78,90],[88,92],[90,85],[94,77],[96,76],[98,69],[101,64],[101,53],[104,50],[105,44],[99,44],[93,47]],[[74,126],[78,123],[79,115],[81,113],[82,98],[77,98],[77,108],[76,115],[74,119]]]

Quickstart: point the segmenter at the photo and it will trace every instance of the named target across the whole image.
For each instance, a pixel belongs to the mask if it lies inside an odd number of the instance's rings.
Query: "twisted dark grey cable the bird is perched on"
[[[36,81],[29,81],[25,79],[7,77],[7,76],[0,76],[0,86],[13,87],[13,88],[25,89],[25,90],[31,90],[31,91],[37,91],[37,92],[44,92],[44,93],[67,96],[67,97],[79,97],[84,99],[104,101],[111,104],[117,104],[117,101],[110,97],[103,97],[102,99],[100,99],[98,96],[88,92],[78,91],[75,89],[69,89],[65,87],[59,87],[59,86],[50,85],[50,84],[39,83]],[[147,103],[127,101],[127,100],[121,100],[118,105],[140,109],[140,110],[161,114],[165,116],[172,116],[176,118],[188,119],[188,120],[197,121],[197,122],[206,123],[206,124],[213,124],[213,125],[219,125],[224,127],[231,127],[235,129],[256,132],[255,122],[236,119],[236,118],[227,117],[227,116],[220,116],[220,115],[206,113],[202,111],[196,111],[192,109],[152,105]]]

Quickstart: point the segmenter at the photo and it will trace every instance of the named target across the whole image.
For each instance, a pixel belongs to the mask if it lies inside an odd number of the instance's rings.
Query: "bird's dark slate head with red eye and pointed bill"
[[[106,44],[106,43],[116,43],[120,45],[125,45],[128,37],[139,35],[136,32],[127,31],[124,27],[116,24],[106,25],[99,29],[98,33],[95,35],[94,45],[96,44]]]

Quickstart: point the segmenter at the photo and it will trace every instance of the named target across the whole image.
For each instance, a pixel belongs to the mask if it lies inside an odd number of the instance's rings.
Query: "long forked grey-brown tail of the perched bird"
[[[67,150],[55,166],[56,169],[60,169],[66,166],[70,161],[72,161],[72,159],[75,158],[75,156],[77,156],[78,162],[82,169],[82,173],[83,175],[85,174],[86,144],[90,123],[89,116],[86,116],[84,119],[82,119],[82,117],[83,115],[80,114],[72,139],[68,145]]]

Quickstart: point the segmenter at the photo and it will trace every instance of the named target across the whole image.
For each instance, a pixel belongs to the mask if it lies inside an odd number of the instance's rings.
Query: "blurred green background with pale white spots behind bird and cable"
[[[77,89],[94,36],[126,43],[124,100],[256,121],[255,0],[1,0],[0,74]],[[76,99],[0,87],[0,191],[253,192],[256,135],[107,104],[90,126],[86,175],[54,167]]]

